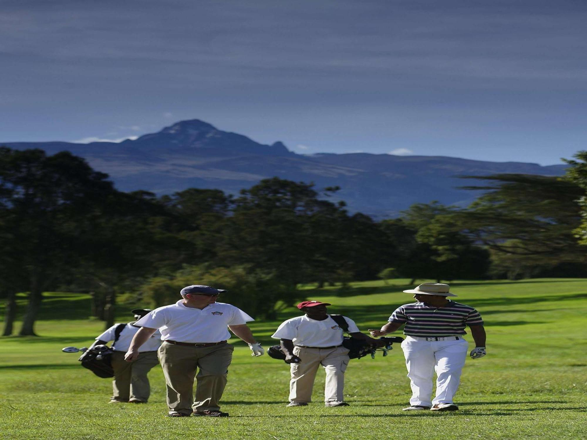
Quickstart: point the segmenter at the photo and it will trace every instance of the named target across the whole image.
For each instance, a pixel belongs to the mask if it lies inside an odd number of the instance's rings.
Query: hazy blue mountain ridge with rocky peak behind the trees
[[[41,148],[48,154],[68,150],[106,172],[122,191],[145,189],[171,194],[185,188],[218,188],[232,194],[259,180],[280,177],[315,182],[316,189],[338,185],[335,197],[349,211],[376,218],[396,216],[414,203],[433,200],[467,205],[479,194],[457,189],[478,181],[459,175],[562,175],[566,165],[487,162],[444,156],[319,153],[301,155],[281,142],[259,144],[237,133],[194,119],[121,143],[9,142],[17,150]]]

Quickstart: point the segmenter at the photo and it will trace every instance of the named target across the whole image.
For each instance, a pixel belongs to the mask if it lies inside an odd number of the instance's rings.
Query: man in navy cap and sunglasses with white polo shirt
[[[167,417],[228,416],[219,406],[234,350],[227,343],[228,329],[249,344],[251,356],[264,353],[246,324],[252,317],[231,304],[216,302],[222,292],[210,286],[184,287],[180,292],[183,299],[136,322],[142,328],[134,336],[126,360],[133,361],[151,334],[161,331],[159,359],[167,384]],[[197,385],[192,401],[194,377]]]

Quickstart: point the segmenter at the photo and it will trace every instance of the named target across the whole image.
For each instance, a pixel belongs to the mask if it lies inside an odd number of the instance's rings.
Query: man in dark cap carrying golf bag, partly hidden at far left
[[[141,319],[151,309],[134,309],[134,319]],[[159,363],[157,360],[157,348],[161,345],[161,333],[156,331],[153,336],[139,350],[139,356],[131,363],[124,361],[124,354],[130,347],[130,341],[139,331],[140,327],[134,325],[135,321],[127,324],[114,324],[110,329],[96,337],[92,347],[114,341],[110,363],[114,370],[112,381],[113,396],[110,403],[146,403],[149,400],[151,388],[147,373]],[[118,335],[118,337],[116,337]]]

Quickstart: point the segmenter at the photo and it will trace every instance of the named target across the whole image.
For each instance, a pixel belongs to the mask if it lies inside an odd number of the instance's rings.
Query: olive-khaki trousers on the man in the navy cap
[[[164,342],[159,347],[159,360],[167,385],[169,412],[219,411],[233,350],[231,344],[188,347]]]

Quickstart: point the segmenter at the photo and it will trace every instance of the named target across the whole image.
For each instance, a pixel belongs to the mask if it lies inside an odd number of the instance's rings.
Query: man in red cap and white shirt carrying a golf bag
[[[290,365],[288,407],[304,407],[312,399],[312,388],[318,366],[326,370],[324,403],[327,407],[346,407],[343,387],[345,370],[349,364],[349,350],[342,346],[344,330],[326,313],[329,303],[304,301],[298,309],[305,313],[282,323],[272,335],[279,339]],[[379,341],[359,332],[355,322],[343,316],[351,336],[372,342]]]

